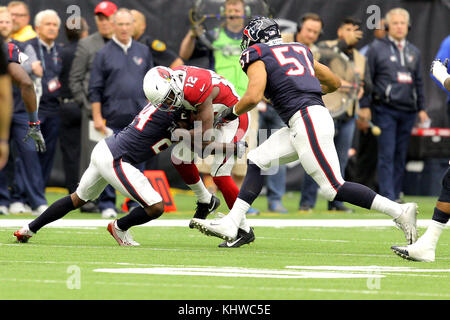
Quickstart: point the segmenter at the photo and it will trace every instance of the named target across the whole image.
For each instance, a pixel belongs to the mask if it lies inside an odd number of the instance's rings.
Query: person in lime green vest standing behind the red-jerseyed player
[[[225,22],[218,28],[205,32],[201,26],[190,29],[180,45],[180,57],[188,61],[194,57],[208,56],[208,69],[214,70],[221,76],[229,80],[236,88],[239,96],[242,96],[247,89],[248,79],[241,69],[239,58],[241,56],[242,31],[245,22],[245,2],[244,0],[225,1]],[[258,110],[255,108],[251,112],[250,132],[247,135],[249,150],[257,145],[258,132]],[[215,189],[212,178],[209,175],[207,161],[198,164],[202,173],[205,185],[211,190]],[[240,188],[247,172],[245,161],[238,161],[233,167],[233,179]],[[249,214],[259,212],[251,208]]]

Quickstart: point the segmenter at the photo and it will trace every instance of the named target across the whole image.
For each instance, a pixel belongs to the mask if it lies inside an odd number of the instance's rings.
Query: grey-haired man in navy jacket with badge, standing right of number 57
[[[417,116],[422,125],[429,117],[425,111],[420,51],[406,40],[409,13],[394,8],[386,14],[385,22],[387,36],[370,44],[367,59],[374,85],[374,123],[381,129],[379,192],[400,202],[411,130]]]

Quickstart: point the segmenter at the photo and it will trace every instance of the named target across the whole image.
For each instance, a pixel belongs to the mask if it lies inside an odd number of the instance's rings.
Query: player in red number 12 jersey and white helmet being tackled
[[[201,130],[191,130],[191,141],[202,141],[212,134],[217,142],[237,143],[238,146],[245,144],[244,138],[250,123],[247,113],[212,130],[215,115],[231,110],[240,98],[234,86],[217,73],[191,66],[180,66],[173,70],[155,67],[144,79],[144,92],[147,99],[160,110],[171,112],[184,109],[194,113],[194,120],[199,122]],[[197,167],[192,166],[194,151],[192,145],[178,144],[172,151],[172,163],[199,199],[194,217],[204,219],[208,210],[218,206],[218,198],[205,188],[199,179]],[[216,152],[214,163],[211,164],[211,176],[230,209],[239,193],[231,178],[234,163],[235,157],[229,153]],[[190,224],[190,227],[193,225]]]

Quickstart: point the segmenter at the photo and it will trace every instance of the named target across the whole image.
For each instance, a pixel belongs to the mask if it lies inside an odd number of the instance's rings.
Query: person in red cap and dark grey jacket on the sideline
[[[69,87],[75,102],[81,106],[81,156],[80,172],[84,172],[89,165],[90,154],[95,142],[90,141],[89,120],[91,118],[91,104],[87,99],[88,85],[92,62],[95,54],[111,39],[113,35],[113,14],[117,6],[110,1],[100,2],[94,9],[97,32],[81,39],[75,52],[75,58],[69,74]],[[111,193],[111,191],[110,191]],[[107,193],[105,193],[107,194]],[[102,194],[101,201],[107,201],[108,196]],[[89,202],[81,208],[81,212],[98,212],[96,205]]]

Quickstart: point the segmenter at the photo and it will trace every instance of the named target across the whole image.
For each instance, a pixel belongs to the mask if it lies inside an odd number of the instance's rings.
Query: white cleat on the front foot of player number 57
[[[204,233],[207,236],[214,236],[228,242],[235,240],[238,234],[238,228],[234,225],[233,221],[227,219],[226,216],[224,218],[214,220],[193,218],[191,223],[194,228],[200,230],[201,233]]]

